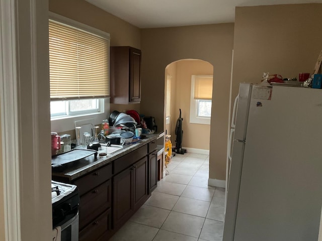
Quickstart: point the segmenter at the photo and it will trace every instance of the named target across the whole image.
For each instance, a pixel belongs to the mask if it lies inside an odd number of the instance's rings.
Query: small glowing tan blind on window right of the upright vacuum
[[[212,76],[195,76],[194,99],[212,99]]]

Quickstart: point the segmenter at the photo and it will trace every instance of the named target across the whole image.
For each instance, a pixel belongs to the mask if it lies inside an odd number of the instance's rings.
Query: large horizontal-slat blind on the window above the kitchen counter
[[[50,98],[109,96],[109,35],[49,20]]]

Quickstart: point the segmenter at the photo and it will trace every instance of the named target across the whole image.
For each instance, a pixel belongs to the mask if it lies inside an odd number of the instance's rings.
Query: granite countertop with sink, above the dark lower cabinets
[[[116,151],[115,153],[108,154],[105,157],[97,156],[97,158],[95,158],[94,155],[91,155],[87,158],[65,164],[63,167],[52,168],[52,176],[67,178],[69,181],[74,180],[146,145],[147,143],[155,140],[157,137],[158,135],[156,134],[149,134],[146,135],[145,139],[142,139],[134,144],[125,145],[122,149]]]

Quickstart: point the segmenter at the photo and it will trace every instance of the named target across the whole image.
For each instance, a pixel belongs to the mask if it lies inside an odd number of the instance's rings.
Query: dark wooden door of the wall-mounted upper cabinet
[[[130,48],[130,96],[129,102],[141,100],[141,51]]]

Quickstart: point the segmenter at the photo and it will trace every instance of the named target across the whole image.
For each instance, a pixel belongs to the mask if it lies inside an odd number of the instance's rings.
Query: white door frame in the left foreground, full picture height
[[[0,12],[0,230],[6,241],[50,240],[48,1],[0,0]]]

